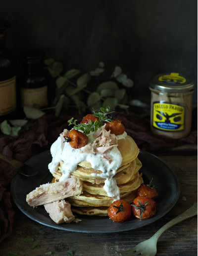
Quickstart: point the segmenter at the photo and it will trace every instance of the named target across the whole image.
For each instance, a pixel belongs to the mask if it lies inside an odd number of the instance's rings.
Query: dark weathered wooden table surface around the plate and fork
[[[15,253],[18,256],[43,256],[48,252],[55,256],[65,256],[72,251],[74,256],[113,256],[109,248],[129,250],[150,238],[160,227],[175,218],[197,201],[197,158],[196,154],[158,156],[177,174],[181,193],[175,206],[161,219],[136,230],[89,234],[67,232],[43,226],[14,206],[15,221],[12,234],[0,245],[0,255]],[[184,200],[186,198],[186,201]],[[144,220],[143,220],[144,221]],[[69,225],[69,224],[68,224]],[[24,239],[33,238],[38,246]],[[158,256],[197,256],[197,216],[187,219],[162,234],[157,243]]]

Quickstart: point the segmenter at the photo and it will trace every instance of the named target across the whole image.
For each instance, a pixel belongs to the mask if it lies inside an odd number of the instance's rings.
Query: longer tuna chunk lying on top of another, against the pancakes
[[[43,184],[26,196],[30,206],[48,204],[83,192],[83,183],[79,178],[72,176],[66,180]]]

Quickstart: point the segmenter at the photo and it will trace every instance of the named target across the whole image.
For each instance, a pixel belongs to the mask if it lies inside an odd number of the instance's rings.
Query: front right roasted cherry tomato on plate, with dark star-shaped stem
[[[151,218],[156,212],[156,202],[151,198],[138,196],[133,200],[132,212],[141,220]]]

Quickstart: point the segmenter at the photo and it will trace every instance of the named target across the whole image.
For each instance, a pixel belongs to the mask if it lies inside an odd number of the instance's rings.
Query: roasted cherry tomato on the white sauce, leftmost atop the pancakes
[[[70,146],[75,149],[80,149],[88,143],[87,135],[75,129],[67,133],[67,136],[64,136],[64,138],[64,142],[69,142]]]

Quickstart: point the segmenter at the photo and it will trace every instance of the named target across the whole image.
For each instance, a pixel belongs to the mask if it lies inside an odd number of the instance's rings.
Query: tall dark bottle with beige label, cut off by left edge
[[[6,49],[6,34],[10,23],[0,19],[0,116],[16,109],[16,58]]]

